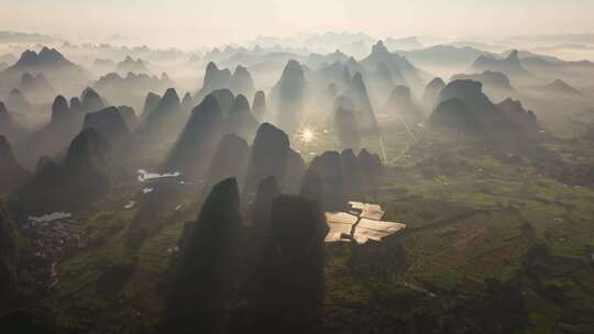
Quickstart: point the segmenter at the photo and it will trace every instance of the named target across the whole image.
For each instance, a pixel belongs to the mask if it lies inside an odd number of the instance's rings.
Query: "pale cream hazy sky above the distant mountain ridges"
[[[201,45],[256,35],[594,32],[594,0],[1,0],[0,30]]]

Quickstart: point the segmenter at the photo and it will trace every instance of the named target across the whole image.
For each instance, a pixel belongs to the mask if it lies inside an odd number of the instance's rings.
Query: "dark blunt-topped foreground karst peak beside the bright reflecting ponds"
[[[246,331],[314,331],[323,299],[327,233],[328,226],[314,202],[286,194],[274,200],[270,232],[251,279],[251,315],[255,321],[245,324]],[[299,314],[298,319],[295,314]]]

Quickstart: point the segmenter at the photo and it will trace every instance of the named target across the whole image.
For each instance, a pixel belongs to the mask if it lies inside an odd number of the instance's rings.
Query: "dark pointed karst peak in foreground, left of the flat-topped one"
[[[212,188],[182,237],[167,294],[165,332],[224,333],[242,264],[240,194],[234,178]]]

